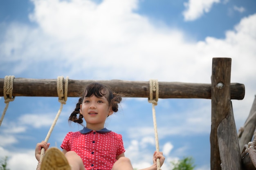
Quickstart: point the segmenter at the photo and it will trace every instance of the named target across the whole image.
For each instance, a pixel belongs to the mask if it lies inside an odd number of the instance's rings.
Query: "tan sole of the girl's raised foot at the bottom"
[[[52,147],[45,152],[41,163],[41,170],[71,170],[63,152]]]

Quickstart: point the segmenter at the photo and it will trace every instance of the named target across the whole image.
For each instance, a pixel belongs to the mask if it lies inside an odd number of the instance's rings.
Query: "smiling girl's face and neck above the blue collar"
[[[80,113],[86,121],[86,127],[92,130],[101,130],[104,128],[106,118],[113,114],[108,100],[105,96],[84,97],[80,105]]]

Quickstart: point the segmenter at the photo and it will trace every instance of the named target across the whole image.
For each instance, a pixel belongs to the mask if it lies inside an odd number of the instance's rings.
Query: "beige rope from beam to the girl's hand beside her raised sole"
[[[62,110],[62,108],[63,108],[63,104],[66,104],[66,101],[67,101],[67,86],[68,86],[68,79],[69,79],[69,78],[66,77],[66,79],[65,79],[65,88],[64,88],[65,91],[63,91],[63,79],[64,79],[63,76],[58,76],[58,77],[57,77],[58,101],[61,103],[61,106],[60,106],[60,108],[59,108],[59,110],[58,110],[58,113],[56,114],[56,117],[55,117],[55,119],[54,119],[54,121],[53,121],[53,123],[52,123],[52,126],[51,126],[51,128],[49,129],[48,134],[47,134],[47,136],[46,136],[46,138],[45,138],[45,142],[46,142],[46,143],[48,142],[49,137],[51,136],[52,131],[53,131],[53,129],[54,129],[54,126],[55,126],[55,124],[56,124],[56,122],[57,122],[57,120],[58,120],[58,117],[59,117],[60,114],[61,114],[61,110]],[[44,156],[45,156],[45,148],[42,148],[42,149],[41,149],[41,155],[40,155],[40,161],[38,161],[38,165],[37,165],[36,170],[40,170],[40,168],[41,168],[41,162],[42,162]]]

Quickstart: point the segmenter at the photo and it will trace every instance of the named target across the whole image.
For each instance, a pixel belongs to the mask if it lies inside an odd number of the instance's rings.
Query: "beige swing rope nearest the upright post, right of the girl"
[[[153,123],[154,123],[154,131],[155,131],[155,148],[156,151],[159,152],[159,141],[157,135],[157,120],[155,116],[155,106],[157,106],[158,96],[159,96],[159,86],[157,79],[149,80],[149,99],[148,102],[152,103],[152,113],[153,113]],[[155,92],[155,98],[153,99],[153,92]],[[157,170],[161,170],[160,159],[157,158]]]

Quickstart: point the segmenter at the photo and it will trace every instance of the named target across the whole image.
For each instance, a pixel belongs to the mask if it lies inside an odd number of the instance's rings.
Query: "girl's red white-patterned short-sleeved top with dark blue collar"
[[[111,170],[116,157],[125,152],[122,136],[106,128],[68,132],[61,148],[76,152],[86,170]]]

